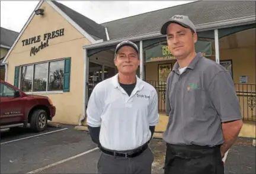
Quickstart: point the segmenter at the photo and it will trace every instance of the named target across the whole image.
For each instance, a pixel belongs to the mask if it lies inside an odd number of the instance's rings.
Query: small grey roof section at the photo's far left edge
[[[11,48],[12,44],[14,43],[15,39],[18,37],[18,32],[8,30],[7,28],[0,28],[0,43],[1,47]]]

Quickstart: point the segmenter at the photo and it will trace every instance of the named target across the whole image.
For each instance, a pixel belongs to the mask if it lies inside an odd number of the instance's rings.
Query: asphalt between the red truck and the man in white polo
[[[40,169],[37,173],[95,173],[98,151],[55,164],[95,147],[87,132],[75,131],[72,126],[48,128],[37,134],[22,128],[1,133],[1,173],[27,173],[37,169]],[[46,166],[49,168],[41,170]]]

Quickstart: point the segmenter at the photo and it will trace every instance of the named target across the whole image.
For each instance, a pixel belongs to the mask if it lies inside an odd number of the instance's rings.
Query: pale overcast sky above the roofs
[[[58,1],[98,24],[192,1]],[[20,32],[39,1],[1,1],[1,27]],[[23,8],[21,8],[23,6]]]

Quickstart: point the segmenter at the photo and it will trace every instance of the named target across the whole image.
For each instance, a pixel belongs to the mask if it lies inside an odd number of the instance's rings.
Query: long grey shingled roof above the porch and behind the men
[[[255,1],[196,1],[120,20],[104,22],[110,40],[159,32],[173,15],[188,15],[195,25],[255,16]],[[220,26],[221,27],[221,26]]]

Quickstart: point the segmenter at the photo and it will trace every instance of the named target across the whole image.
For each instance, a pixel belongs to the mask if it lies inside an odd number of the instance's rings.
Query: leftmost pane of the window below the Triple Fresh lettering
[[[21,67],[21,91],[31,92],[33,80],[33,65]]]

